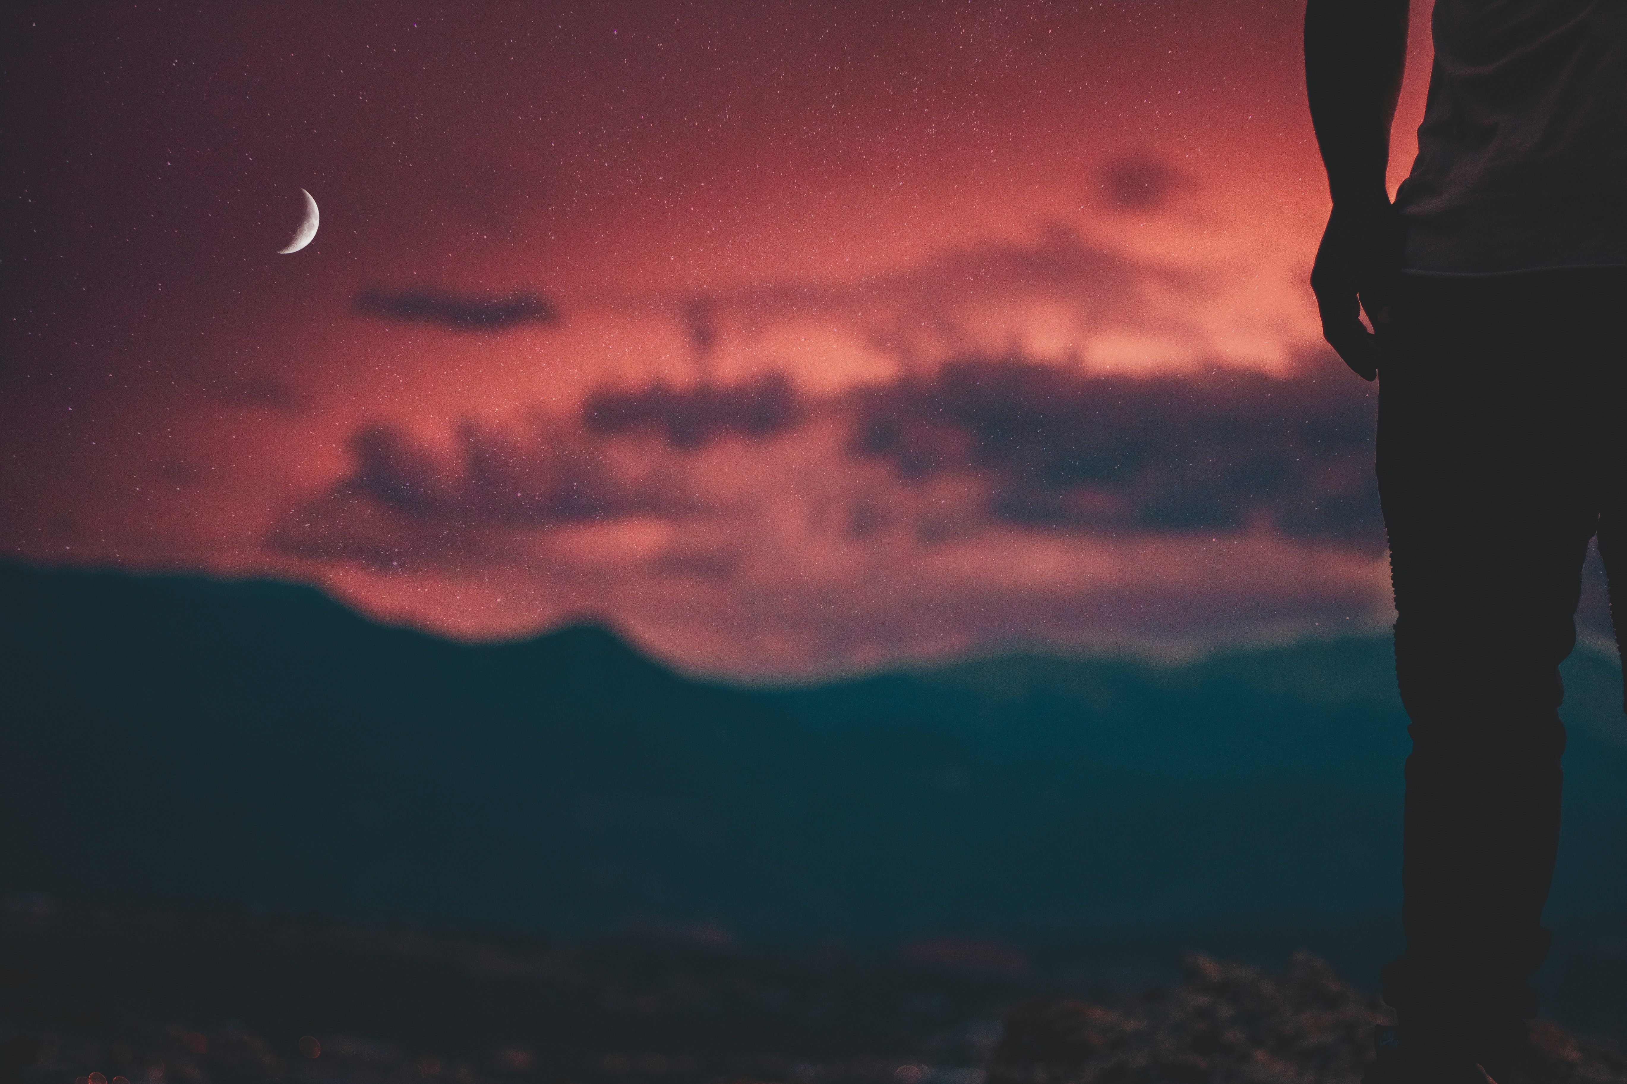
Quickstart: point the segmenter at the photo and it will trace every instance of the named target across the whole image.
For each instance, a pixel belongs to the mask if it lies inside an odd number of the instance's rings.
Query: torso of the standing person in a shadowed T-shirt
[[[1627,265],[1627,0],[1435,0],[1411,271]]]

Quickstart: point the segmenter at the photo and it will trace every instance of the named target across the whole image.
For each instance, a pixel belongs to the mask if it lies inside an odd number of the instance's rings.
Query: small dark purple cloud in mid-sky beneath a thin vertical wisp
[[[765,437],[802,416],[802,398],[783,372],[732,385],[600,388],[582,403],[582,421],[592,432],[659,432],[675,449],[698,449],[722,434]]]

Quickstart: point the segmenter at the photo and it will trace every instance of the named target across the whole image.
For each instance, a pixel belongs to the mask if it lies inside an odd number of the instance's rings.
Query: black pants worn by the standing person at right
[[[1588,540],[1627,632],[1627,270],[1406,278],[1385,333],[1378,486],[1412,725],[1402,1034],[1523,1038],[1559,843],[1559,663]],[[1495,1076],[1495,1073],[1494,1073]]]

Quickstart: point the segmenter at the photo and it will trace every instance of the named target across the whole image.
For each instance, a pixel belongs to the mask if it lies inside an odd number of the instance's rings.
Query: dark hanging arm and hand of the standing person
[[[1360,309],[1375,327],[1388,322],[1385,291],[1401,258],[1385,172],[1406,59],[1407,0],[1305,5],[1305,89],[1333,195],[1311,289],[1323,336],[1363,380],[1378,374],[1378,343]]]

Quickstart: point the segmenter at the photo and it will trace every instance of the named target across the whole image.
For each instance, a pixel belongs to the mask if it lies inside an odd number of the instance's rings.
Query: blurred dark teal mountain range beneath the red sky
[[[591,624],[462,645],[306,587],[23,566],[0,637],[0,887],[804,941],[1399,902],[1383,639],[737,687]],[[1565,681],[1551,915],[1619,910],[1619,671]]]

